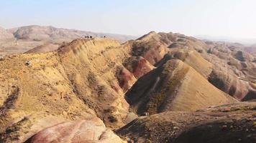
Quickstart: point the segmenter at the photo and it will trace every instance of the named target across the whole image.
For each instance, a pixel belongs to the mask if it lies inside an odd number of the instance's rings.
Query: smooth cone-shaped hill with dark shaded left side
[[[174,59],[140,78],[125,96],[137,114],[195,111],[211,105],[236,102],[191,66]]]

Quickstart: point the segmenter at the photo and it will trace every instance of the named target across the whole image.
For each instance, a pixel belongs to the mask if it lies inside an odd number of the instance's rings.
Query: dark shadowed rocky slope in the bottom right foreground
[[[134,119],[116,132],[132,142],[255,142],[255,107],[256,102],[244,102],[196,112],[164,112]]]

